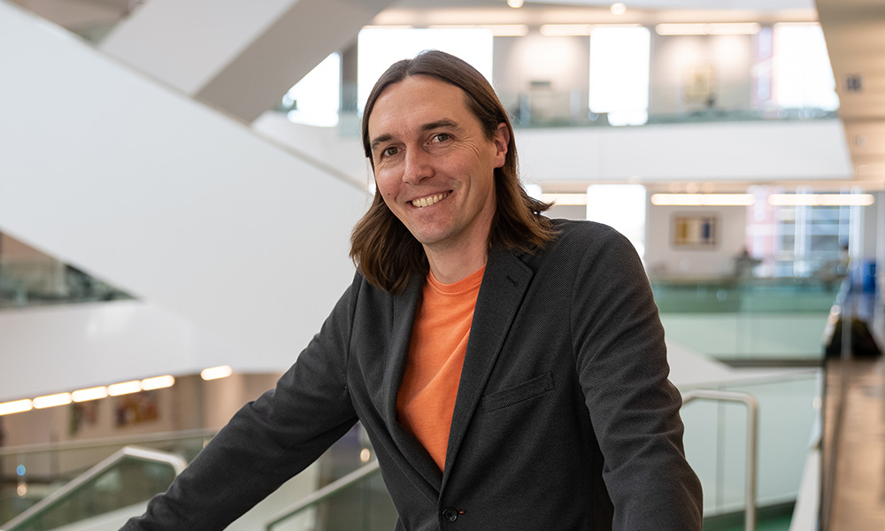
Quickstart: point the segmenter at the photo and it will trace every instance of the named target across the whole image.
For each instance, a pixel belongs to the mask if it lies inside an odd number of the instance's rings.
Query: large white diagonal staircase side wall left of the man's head
[[[27,50],[0,54],[0,231],[237,353],[146,358],[143,374],[288,367],[350,282],[365,192],[9,4],[0,48]],[[0,389],[38,385],[52,356],[0,372]],[[96,371],[82,359],[65,388]]]

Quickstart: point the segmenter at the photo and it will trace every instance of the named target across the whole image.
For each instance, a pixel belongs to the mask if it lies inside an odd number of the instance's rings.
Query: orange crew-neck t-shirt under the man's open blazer
[[[440,470],[445,466],[467,336],[485,269],[483,266],[453,284],[443,284],[433,273],[427,274],[403,383],[396,396],[400,423],[424,445]]]

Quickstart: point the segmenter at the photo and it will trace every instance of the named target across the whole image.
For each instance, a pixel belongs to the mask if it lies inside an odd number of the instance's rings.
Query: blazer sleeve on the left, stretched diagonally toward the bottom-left
[[[356,422],[345,381],[358,277],[296,363],[235,413],[124,531],[219,531],[309,466]]]

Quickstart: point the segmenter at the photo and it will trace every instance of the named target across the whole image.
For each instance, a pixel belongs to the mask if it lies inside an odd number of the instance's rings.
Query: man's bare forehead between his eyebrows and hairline
[[[369,138],[393,134],[395,129],[420,127],[439,119],[469,120],[464,90],[426,75],[412,75],[389,85],[375,100],[369,115]]]

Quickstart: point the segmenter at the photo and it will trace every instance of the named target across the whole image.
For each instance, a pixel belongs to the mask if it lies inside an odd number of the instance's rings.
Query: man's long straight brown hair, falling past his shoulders
[[[375,83],[366,101],[362,125],[363,148],[373,169],[369,116],[385,89],[412,75],[431,76],[462,89],[467,107],[480,120],[489,140],[494,137],[498,124],[506,124],[510,131],[504,165],[495,169],[496,209],[489,232],[489,245],[530,252],[550,242],[553,238],[550,219],[541,215],[550,208],[550,204],[528,196],[519,184],[516,142],[504,105],[481,73],[448,53],[428,50],[413,59],[397,61]],[[378,191],[368,212],[353,227],[350,258],[367,281],[393,294],[402,293],[412,274],[426,274],[428,267],[427,255],[421,243],[390,212]]]

